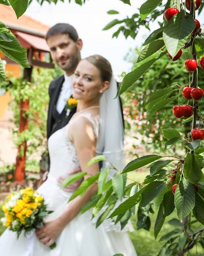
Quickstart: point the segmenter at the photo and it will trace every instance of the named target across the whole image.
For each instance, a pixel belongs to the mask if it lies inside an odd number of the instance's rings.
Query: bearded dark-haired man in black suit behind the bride
[[[82,40],[79,38],[76,29],[67,23],[57,23],[52,26],[45,37],[53,61],[65,71],[51,82],[49,86],[50,102],[48,105],[47,137],[49,138],[55,131],[63,128],[76,112],[76,108],[71,111],[65,109],[68,99],[71,97],[72,78],[77,64],[81,60],[80,51]],[[122,103],[120,101],[121,111]],[[79,172],[80,169],[73,170],[71,174]],[[59,177],[59,185],[64,177]],[[73,192],[80,185],[82,180],[78,180],[65,190]]]

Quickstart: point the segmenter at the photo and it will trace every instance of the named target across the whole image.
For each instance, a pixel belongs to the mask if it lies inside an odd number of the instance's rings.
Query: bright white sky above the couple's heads
[[[56,23],[70,23],[77,29],[79,37],[82,38],[82,58],[89,55],[99,54],[110,61],[114,73],[129,72],[132,64],[124,60],[129,49],[140,48],[142,42],[150,35],[149,30],[142,28],[135,39],[128,37],[125,39],[123,34],[118,38],[112,38],[116,27],[103,31],[103,27],[113,19],[123,19],[131,17],[138,12],[138,8],[146,0],[130,0],[131,6],[119,0],[86,0],[86,3],[79,6],[74,0],[68,3],[48,4],[44,2],[40,6],[33,0],[26,11],[26,15],[33,17],[49,26]],[[108,15],[109,10],[116,10],[119,15]],[[203,13],[203,12],[202,12]],[[200,15],[201,24],[204,23],[204,15]],[[118,25],[118,27],[120,24]],[[159,28],[157,22],[150,24],[151,32]]]

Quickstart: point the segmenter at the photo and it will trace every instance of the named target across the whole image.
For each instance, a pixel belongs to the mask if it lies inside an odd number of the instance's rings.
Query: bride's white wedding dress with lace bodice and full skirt
[[[68,130],[77,118],[87,118],[93,125],[97,138],[99,122],[90,113],[75,114],[68,125],[56,131],[48,140],[48,150],[51,159],[48,179],[38,188],[45,198],[49,209],[53,210],[46,221],[59,217],[65,208],[69,207],[68,199],[71,193],[65,192],[57,185],[59,176],[67,175],[69,171],[79,167],[79,160],[73,143],[68,139]],[[56,239],[57,247],[51,250],[41,244],[35,233],[25,237],[6,230],[0,236],[0,250],[3,256],[113,256],[122,253],[124,256],[136,256],[135,249],[126,231],[105,220],[98,228],[91,221],[91,210],[76,216]],[[127,227],[126,230],[129,228]]]

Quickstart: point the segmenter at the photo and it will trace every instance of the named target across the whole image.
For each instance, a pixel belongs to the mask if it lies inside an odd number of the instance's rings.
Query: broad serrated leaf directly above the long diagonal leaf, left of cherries
[[[142,52],[140,52],[137,62],[143,61],[144,59],[153,55],[153,53],[159,51],[164,46],[164,40],[158,39],[148,44]]]

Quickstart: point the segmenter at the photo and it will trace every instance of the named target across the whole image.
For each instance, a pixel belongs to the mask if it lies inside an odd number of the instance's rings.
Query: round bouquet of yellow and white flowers
[[[8,195],[2,209],[4,212],[4,217],[1,218],[3,226],[17,232],[17,238],[23,230],[26,234],[42,227],[43,218],[52,212],[47,210],[42,196],[29,187]],[[50,248],[55,246],[56,243]]]

